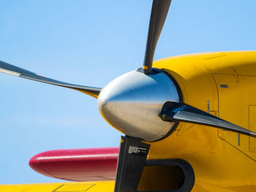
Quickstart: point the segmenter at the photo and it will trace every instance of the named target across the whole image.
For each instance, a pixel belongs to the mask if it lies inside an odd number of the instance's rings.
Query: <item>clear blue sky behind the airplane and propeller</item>
[[[155,60],[255,50],[254,0],[173,0]],[[0,60],[104,87],[143,64],[149,0],[0,2]],[[120,133],[78,91],[0,74],[0,183],[57,182],[30,169],[45,150],[118,146]]]

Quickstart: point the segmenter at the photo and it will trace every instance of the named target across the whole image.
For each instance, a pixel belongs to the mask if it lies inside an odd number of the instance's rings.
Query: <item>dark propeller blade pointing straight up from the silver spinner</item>
[[[171,0],[154,0],[151,9],[151,18],[148,27],[148,39],[146,44],[146,53],[143,64],[143,72],[151,72],[154,51],[157,47],[157,41],[165,24]]]

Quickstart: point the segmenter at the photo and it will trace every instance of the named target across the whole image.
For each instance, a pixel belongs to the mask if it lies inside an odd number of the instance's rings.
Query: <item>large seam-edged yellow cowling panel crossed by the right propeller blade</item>
[[[219,93],[219,118],[256,131],[256,77],[213,74]],[[218,136],[256,160],[256,139],[219,129]]]

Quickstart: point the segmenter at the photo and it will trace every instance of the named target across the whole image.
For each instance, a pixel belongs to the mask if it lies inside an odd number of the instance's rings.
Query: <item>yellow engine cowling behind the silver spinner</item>
[[[185,103],[207,111],[208,101],[211,114],[256,129],[256,51],[181,55],[154,67],[173,75]],[[193,192],[249,192],[256,191],[254,143],[240,135],[238,146],[236,133],[180,123],[169,137],[151,143],[148,158],[188,161],[195,171]]]

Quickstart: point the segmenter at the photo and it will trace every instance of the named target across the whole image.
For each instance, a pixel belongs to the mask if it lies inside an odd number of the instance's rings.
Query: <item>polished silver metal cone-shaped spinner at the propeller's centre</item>
[[[151,142],[165,137],[173,123],[159,117],[166,101],[178,102],[178,91],[166,74],[129,72],[99,93],[99,112],[124,134]]]

